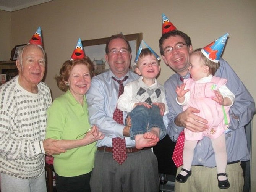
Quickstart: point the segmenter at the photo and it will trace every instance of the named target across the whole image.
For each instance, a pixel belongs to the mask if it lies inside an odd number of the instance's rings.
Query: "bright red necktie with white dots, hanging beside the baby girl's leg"
[[[185,141],[185,134],[183,130],[178,136],[177,143],[175,145],[175,148],[172,154],[172,160],[177,167],[183,165],[184,141]]]

